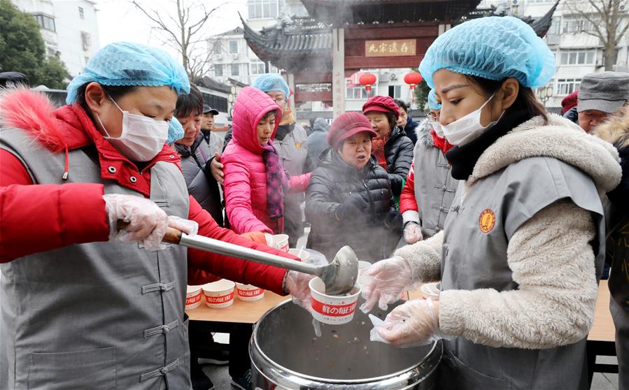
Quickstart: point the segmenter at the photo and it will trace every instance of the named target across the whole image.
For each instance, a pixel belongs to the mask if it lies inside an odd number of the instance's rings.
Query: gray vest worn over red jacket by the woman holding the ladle
[[[17,129],[3,129],[0,147],[22,161],[34,184],[64,183],[64,153],[39,147]],[[69,168],[66,182],[143,196],[101,179],[93,146],[69,152]],[[158,162],[150,174],[150,199],[168,215],[188,217],[178,167]],[[0,372],[0,388],[190,389],[186,259],[177,245],[149,252],[138,243],[111,242],[2,264],[0,354],[8,372]]]

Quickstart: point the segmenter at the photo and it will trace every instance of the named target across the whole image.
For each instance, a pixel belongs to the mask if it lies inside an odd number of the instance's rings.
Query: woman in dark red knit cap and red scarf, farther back
[[[400,109],[390,96],[374,96],[362,106],[372,129],[374,138],[372,154],[378,165],[388,173],[393,194],[400,196],[413,161],[413,142],[403,129],[397,127]]]

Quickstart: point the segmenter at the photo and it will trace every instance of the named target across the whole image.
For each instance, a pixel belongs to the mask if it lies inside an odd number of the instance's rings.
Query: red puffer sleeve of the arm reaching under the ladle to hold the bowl
[[[297,257],[293,257],[288,253],[274,250],[271,247],[267,247],[267,245],[254,243],[247,238],[238,236],[229,229],[223,229],[218,226],[209,212],[203,210],[192,196],[190,196],[188,219],[192,219],[199,224],[199,235],[201,236],[299,261]],[[287,270],[283,268],[265,266],[253,261],[194,249],[188,249],[188,267],[195,270],[204,270],[207,273],[218,275],[234,282],[253,284],[262,289],[273,291],[276,294],[286,295],[282,289],[282,284]]]

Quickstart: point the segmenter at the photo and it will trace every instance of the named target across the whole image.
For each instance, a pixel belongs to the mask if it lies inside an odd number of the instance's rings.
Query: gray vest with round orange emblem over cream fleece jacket
[[[507,264],[511,236],[536,212],[565,198],[592,212],[598,229],[592,243],[598,279],[605,259],[605,221],[593,180],[558,159],[532,157],[470,187],[460,182],[444,228],[440,288],[518,289]],[[444,347],[441,389],[588,389],[586,339],[549,349],[519,349],[456,337],[444,340]]]

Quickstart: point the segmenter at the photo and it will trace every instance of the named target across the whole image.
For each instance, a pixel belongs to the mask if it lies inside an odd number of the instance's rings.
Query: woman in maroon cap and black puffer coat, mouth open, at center
[[[310,178],[307,247],[328,259],[344,245],[352,247],[358,259],[385,259],[402,234],[402,217],[393,203],[388,173],[371,155],[376,136],[364,115],[341,115],[327,135],[332,147],[320,157]]]

